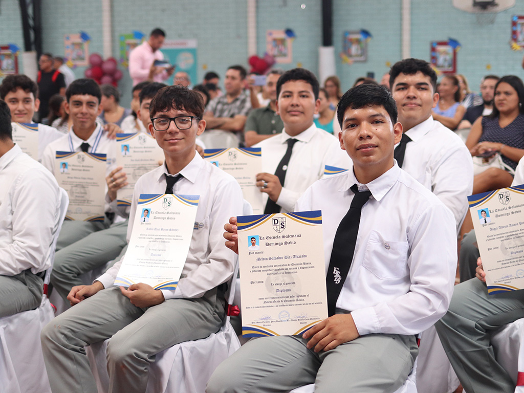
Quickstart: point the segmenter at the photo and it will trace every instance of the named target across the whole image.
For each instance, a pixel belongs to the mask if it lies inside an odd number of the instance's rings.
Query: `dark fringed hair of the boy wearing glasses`
[[[149,116],[152,118],[160,112],[168,112],[171,109],[184,110],[201,119],[204,114],[204,100],[200,93],[181,85],[166,86],[151,100]]]

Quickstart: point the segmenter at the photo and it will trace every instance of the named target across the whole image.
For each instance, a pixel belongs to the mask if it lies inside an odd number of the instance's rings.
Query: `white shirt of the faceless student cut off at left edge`
[[[15,145],[0,157],[0,275],[51,267],[60,209],[57,181]]]

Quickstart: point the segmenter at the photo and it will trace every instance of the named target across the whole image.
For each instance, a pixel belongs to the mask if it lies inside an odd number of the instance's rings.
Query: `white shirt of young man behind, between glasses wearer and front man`
[[[338,168],[348,168],[351,159],[341,149],[339,139],[326,133],[323,129],[316,128],[313,124],[297,136],[290,136],[286,129],[282,134],[265,139],[253,147],[262,150],[262,171],[275,174],[278,164],[288,149],[287,140],[298,139],[293,146],[286,179],[277,200],[281,212],[292,212],[300,195],[307,190],[316,180],[324,175],[324,166],[330,165]],[[264,206],[268,195],[262,195]]]

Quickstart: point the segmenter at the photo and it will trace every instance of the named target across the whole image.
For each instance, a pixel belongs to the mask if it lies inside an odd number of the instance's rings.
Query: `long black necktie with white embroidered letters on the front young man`
[[[355,244],[358,235],[358,225],[362,206],[367,202],[370,191],[358,192],[356,184],[351,186],[355,193],[351,201],[350,209],[339,224],[333,241],[331,259],[329,262],[328,275],[326,276],[326,289],[328,290],[328,314],[335,314],[336,301],[339,299],[340,291],[344,286],[347,273],[350,271]]]

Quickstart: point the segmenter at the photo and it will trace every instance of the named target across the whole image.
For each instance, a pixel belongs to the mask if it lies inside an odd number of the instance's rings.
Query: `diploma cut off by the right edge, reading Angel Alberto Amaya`
[[[524,289],[524,184],[467,198],[488,293]]]

